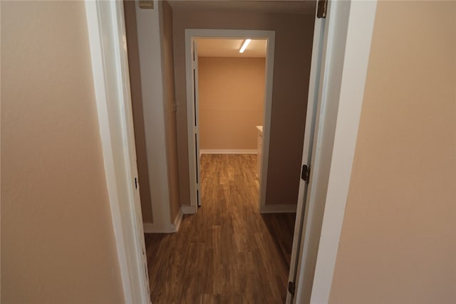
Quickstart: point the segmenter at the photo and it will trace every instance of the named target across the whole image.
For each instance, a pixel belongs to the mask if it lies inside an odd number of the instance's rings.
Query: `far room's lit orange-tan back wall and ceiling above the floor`
[[[257,154],[264,120],[266,40],[196,41],[200,154]]]

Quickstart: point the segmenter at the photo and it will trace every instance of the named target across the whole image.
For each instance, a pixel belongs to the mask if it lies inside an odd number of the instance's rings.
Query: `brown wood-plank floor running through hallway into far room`
[[[284,303],[294,214],[259,214],[256,157],[203,154],[197,214],[145,235],[152,303]]]

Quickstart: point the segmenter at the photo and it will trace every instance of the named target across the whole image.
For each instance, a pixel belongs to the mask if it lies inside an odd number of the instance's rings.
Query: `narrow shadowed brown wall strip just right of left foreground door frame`
[[[138,53],[138,33],[136,30],[135,1],[123,1],[125,31],[127,33],[128,70],[130,75],[133,127],[135,130],[136,164],[140,184],[141,212],[144,223],[152,223],[152,201],[150,201],[149,172],[145,149],[144,116],[142,114],[140,58]]]

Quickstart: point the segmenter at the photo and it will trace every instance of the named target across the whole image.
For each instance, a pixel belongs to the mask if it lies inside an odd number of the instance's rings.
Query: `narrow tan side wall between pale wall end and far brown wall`
[[[179,170],[177,162],[177,130],[175,103],[174,58],[172,44],[172,9],[167,1],[160,1],[160,28],[162,35],[162,68],[165,81],[165,130],[168,164],[168,179],[170,184],[170,214],[171,221],[180,209]]]

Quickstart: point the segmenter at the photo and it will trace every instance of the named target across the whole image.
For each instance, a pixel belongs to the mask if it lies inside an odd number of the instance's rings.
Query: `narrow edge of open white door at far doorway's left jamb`
[[[192,40],[192,83],[193,83],[193,136],[195,137],[195,181],[197,184],[197,204],[201,206],[201,176],[199,174],[199,105],[198,105],[198,45]]]

